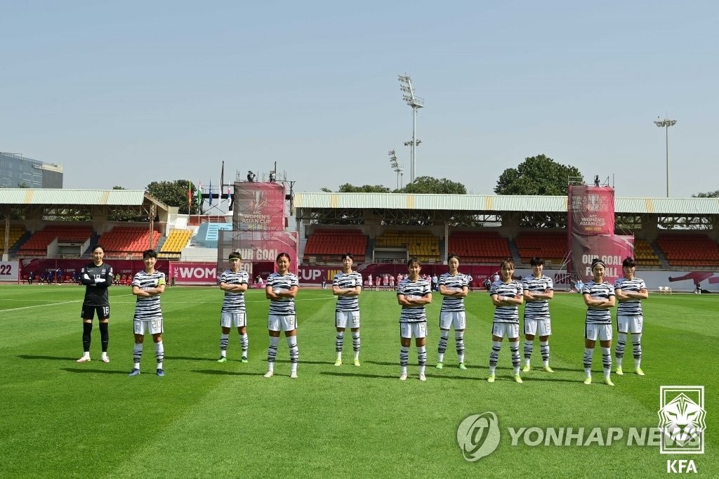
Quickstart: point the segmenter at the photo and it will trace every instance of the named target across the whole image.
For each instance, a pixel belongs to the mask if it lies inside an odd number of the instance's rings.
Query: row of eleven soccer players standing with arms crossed
[[[86,286],[81,317],[83,319],[83,357],[78,362],[90,360],[90,343],[92,320],[98,315],[101,331],[102,355],[101,360],[109,362],[107,356],[108,322],[109,322],[109,296],[107,287],[113,278],[112,268],[104,263],[104,248],[96,245],[93,248],[93,262],[81,270],[81,283]],[[247,291],[249,277],[247,272],[240,270],[241,257],[233,252],[229,255],[230,269],[220,276],[219,285],[224,291],[224,300],[221,308],[221,337],[219,362],[226,361],[226,350],[229,344],[229,333],[232,327],[237,327],[242,347],[242,362],[247,362],[249,340],[247,338],[247,312],[244,304],[244,291]],[[140,271],[132,280],[132,293],[137,296],[133,319],[134,330],[134,365],[129,375],[139,374],[140,358],[142,357],[145,333],[152,335],[155,344],[155,357],[157,358],[157,375],[164,375],[162,360],[164,349],[162,347],[162,311],[160,309],[160,295],[165,291],[165,275],[155,270],[157,252],[146,250],[143,252],[145,271]],[[280,332],[285,332],[290,350],[290,378],[297,377],[298,346],[296,329],[295,297],[298,291],[298,278],[290,273],[290,257],[280,253],[276,258],[277,272],[267,278],[265,296],[270,300],[270,311],[267,320],[267,329],[270,335],[270,345],[267,349],[267,373],[270,378],[274,374],[275,358],[280,340]],[[336,366],[342,365],[342,349],[344,332],[347,327],[352,332],[352,346],[354,350],[353,363],[359,366],[359,301],[362,291],[362,276],[352,270],[352,255],[342,255],[342,271],[333,278],[333,293],[337,296],[336,304]],[[444,273],[439,279],[439,292],[443,296],[440,311],[440,339],[438,347],[438,361],[436,368],[443,368],[444,353],[446,351],[449,333],[452,328],[455,332],[455,343],[459,359],[459,368],[466,369],[464,365],[464,329],[466,326],[464,313],[464,297],[467,296],[467,276],[459,273],[459,257],[449,255],[449,273]],[[539,257],[531,260],[532,274],[521,282],[513,280],[514,265],[512,260],[504,260],[500,265],[502,278],[493,283],[490,288],[490,297],[495,306],[492,333],[492,352],[490,352],[490,375],[487,380],[495,380],[495,368],[503,337],[508,337],[512,363],[514,367],[514,380],[521,383],[519,375],[519,316],[518,306],[527,301],[525,320],[525,343],[523,370],[530,369],[530,359],[533,351],[533,339],[539,335],[541,357],[544,370],[552,372],[549,367],[549,335],[551,322],[549,316],[549,300],[554,296],[554,286],[551,278],[542,274],[544,261]],[[420,277],[421,264],[416,258],[411,258],[407,264],[408,275],[398,285],[398,304],[400,311],[400,380],[407,378],[407,365],[411,338],[415,337],[418,351],[418,364],[420,380],[426,380],[426,311],[425,306],[431,303],[431,283]],[[623,263],[624,277],[615,285],[604,281],[605,265],[600,260],[592,262],[592,281],[585,285],[582,291],[587,304],[587,320],[585,326],[585,356],[584,365],[587,378],[585,383],[591,383],[592,355],[597,339],[602,347],[605,382],[612,385],[611,370],[611,316],[610,309],[615,306],[615,298],[619,300],[618,309],[618,345],[615,357],[618,360],[616,373],[621,375],[621,360],[626,334],[631,332],[634,347],[635,370],[644,375],[640,368],[641,362],[641,326],[642,311],[641,299],[648,296],[644,281],[634,276],[636,265],[631,258]]]

